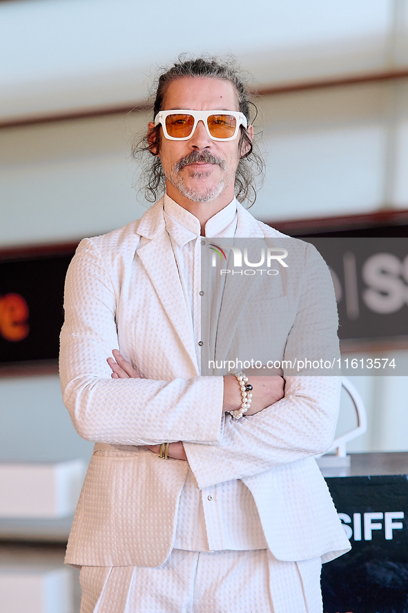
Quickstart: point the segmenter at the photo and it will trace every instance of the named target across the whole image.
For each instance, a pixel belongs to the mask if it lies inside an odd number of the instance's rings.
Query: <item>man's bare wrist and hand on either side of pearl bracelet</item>
[[[284,397],[284,379],[278,375],[272,377],[248,377],[253,386],[251,407],[244,415],[255,415]],[[224,402],[222,411],[233,411],[240,408],[242,396],[237,378],[234,375],[224,377]]]

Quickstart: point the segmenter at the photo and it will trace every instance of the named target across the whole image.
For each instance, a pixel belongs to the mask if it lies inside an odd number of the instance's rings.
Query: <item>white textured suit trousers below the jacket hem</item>
[[[81,613],[322,613],[320,558],[182,551],[158,568],[81,568]]]

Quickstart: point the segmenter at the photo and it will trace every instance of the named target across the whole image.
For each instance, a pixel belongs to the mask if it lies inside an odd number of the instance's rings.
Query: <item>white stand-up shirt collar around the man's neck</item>
[[[177,202],[164,194],[164,220],[166,229],[179,247],[183,247],[201,234],[200,221],[190,211],[177,205]],[[237,225],[237,200],[233,198],[229,205],[208,219],[205,236],[231,238]]]

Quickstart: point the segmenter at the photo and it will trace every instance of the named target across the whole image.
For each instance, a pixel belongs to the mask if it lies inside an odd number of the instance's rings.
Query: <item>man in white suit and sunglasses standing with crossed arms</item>
[[[174,64],[139,146],[164,196],[81,241],[68,270],[61,388],[95,442],[66,556],[81,613],[322,613],[321,564],[349,549],[313,460],[333,438],[339,378],[250,376],[240,417],[242,380],[200,376],[202,237],[282,237],[239,202],[252,141],[235,67]],[[286,241],[302,266],[267,301],[280,359],[337,342],[327,267]]]

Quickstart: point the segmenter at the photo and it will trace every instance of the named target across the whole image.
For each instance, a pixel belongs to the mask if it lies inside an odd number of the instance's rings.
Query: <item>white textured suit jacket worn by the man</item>
[[[237,237],[283,236],[238,205]],[[331,278],[315,249],[292,238],[304,265],[284,295],[262,300],[282,325],[274,359],[308,355],[336,334]],[[262,297],[262,296],[261,296]],[[253,305],[260,296],[249,296]],[[237,305],[233,321],[244,304]],[[334,435],[340,379],[287,377],[285,397],[239,421],[222,417],[222,377],[200,377],[191,319],[159,200],[141,220],[79,244],[66,279],[61,388],[78,433],[95,441],[66,563],[149,566],[171,552],[188,465],[146,444],[184,442],[200,489],[241,479],[279,560],[330,560],[349,542],[314,455]],[[113,348],[142,379],[111,379]],[[310,354],[310,351],[309,351]],[[228,522],[228,518],[225,518]]]

